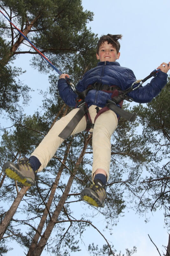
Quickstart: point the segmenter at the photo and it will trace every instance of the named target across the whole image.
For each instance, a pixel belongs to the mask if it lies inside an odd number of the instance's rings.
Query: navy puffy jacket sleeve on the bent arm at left
[[[71,108],[76,105],[76,93],[71,89],[71,87],[67,84],[66,79],[60,78],[58,80],[58,90],[59,95],[62,100]]]

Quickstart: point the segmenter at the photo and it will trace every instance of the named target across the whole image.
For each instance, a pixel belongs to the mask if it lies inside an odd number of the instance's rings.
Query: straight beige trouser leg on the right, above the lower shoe
[[[117,128],[117,115],[107,110],[97,117],[93,129],[93,166],[92,180],[97,169],[103,169],[109,178],[111,157],[111,135]]]

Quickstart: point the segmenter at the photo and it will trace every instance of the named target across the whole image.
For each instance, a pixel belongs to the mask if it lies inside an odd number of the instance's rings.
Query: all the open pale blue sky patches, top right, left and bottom
[[[137,79],[150,74],[162,62],[170,61],[169,0],[164,0],[162,3],[158,0],[83,0],[82,5],[84,10],[94,12],[94,20],[88,24],[92,32],[98,36],[108,33],[123,35],[118,62],[121,66],[131,68]],[[16,60],[18,66],[21,66],[21,63],[22,68],[27,72],[20,79],[35,89],[32,93],[32,103],[26,108],[28,113],[33,114],[42,103],[41,98],[37,100],[37,89],[46,90],[49,86],[48,76],[30,68],[29,58],[24,55]],[[149,234],[163,255],[162,250],[164,252],[165,250],[162,245],[166,246],[168,242],[163,212],[161,210],[153,214],[148,212],[146,218],[150,219],[148,223],[145,223],[145,216],[139,218],[132,210],[125,212],[125,216],[120,218],[117,226],[113,228],[113,235],[110,236],[107,232],[104,235],[113,242],[117,251],[121,250],[125,253],[125,248],[131,249],[136,245],[138,251],[135,256],[159,255],[148,237]],[[97,215],[93,221],[102,231],[103,217]],[[87,229],[83,236],[87,247],[93,238],[96,239],[96,243],[98,241],[104,243],[92,229]],[[22,253],[23,249],[20,252]],[[13,252],[7,254],[7,256],[11,255]],[[43,252],[42,255],[47,254]],[[78,256],[80,253],[72,255]],[[84,249],[81,255],[89,254]]]

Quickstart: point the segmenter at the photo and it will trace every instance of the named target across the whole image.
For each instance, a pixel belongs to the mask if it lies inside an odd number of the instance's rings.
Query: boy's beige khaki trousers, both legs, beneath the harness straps
[[[89,107],[89,115],[92,123],[96,117],[96,106]],[[101,109],[101,108],[99,108]],[[66,127],[69,121],[77,113],[79,108],[75,108],[70,111],[66,116],[58,120],[39,146],[33,151],[31,156],[36,156],[41,166],[38,172],[42,171],[46,167],[50,159],[54,156],[61,143],[64,141],[58,135]],[[112,110],[107,110],[97,117],[94,128],[89,132],[93,132],[92,147],[93,147],[93,166],[92,166],[92,180],[94,179],[94,173],[97,169],[103,169],[107,173],[107,180],[109,178],[110,170],[110,157],[111,157],[111,135],[117,128],[117,115]],[[86,118],[83,116],[79,124],[75,127],[71,135],[82,132],[86,129]]]

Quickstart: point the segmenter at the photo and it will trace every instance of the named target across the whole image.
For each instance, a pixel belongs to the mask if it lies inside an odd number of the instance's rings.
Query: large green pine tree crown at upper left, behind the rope
[[[97,37],[86,27],[93,13],[83,11],[80,0],[0,1],[0,8],[56,67],[70,73],[75,69],[78,79],[94,65]],[[30,88],[18,81],[22,70],[12,67],[12,61],[28,53],[40,71],[49,72],[49,67],[2,14],[0,19],[0,109],[15,114],[20,98],[28,104]]]

